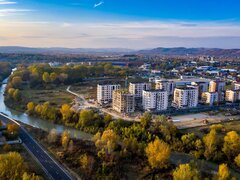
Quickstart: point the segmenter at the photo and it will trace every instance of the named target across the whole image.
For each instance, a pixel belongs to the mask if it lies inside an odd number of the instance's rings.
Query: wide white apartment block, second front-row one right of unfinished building
[[[198,89],[194,87],[175,88],[173,105],[180,109],[197,107]]]

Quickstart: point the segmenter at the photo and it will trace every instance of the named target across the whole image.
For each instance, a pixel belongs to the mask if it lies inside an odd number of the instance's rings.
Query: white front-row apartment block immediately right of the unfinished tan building
[[[142,104],[145,111],[167,110],[168,92],[162,90],[143,91]]]

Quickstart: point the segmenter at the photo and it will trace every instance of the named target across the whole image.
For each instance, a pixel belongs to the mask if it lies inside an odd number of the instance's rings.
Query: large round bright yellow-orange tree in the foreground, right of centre
[[[168,166],[171,149],[164,141],[155,139],[147,145],[145,151],[148,162],[153,169],[162,169]]]

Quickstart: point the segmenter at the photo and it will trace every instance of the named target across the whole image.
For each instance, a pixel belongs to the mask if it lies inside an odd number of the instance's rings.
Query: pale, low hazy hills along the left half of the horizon
[[[130,53],[124,48],[29,48],[20,46],[0,46],[0,53],[50,53],[50,54],[81,54],[81,53]]]

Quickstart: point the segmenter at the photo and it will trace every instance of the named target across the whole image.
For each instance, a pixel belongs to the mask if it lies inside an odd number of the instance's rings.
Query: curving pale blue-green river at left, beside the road
[[[3,82],[6,82],[5,79]],[[15,119],[19,122],[25,123],[27,125],[33,126],[35,128],[39,128],[45,131],[51,131],[52,129],[56,129],[57,132],[60,134],[63,131],[67,130],[70,132],[71,137],[83,140],[90,140],[92,138],[91,134],[85,133],[83,131],[65,127],[63,125],[54,124],[47,120],[42,120],[40,118],[28,116],[26,113],[18,112],[13,109],[8,108],[4,103],[4,91],[6,88],[6,84],[0,85],[0,112],[7,114],[12,119]]]

